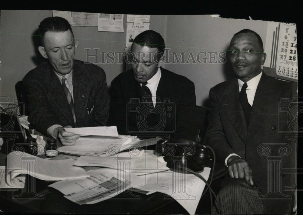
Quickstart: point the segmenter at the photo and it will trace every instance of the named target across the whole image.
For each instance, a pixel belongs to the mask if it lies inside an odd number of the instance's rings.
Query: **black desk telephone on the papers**
[[[205,146],[186,138],[159,139],[155,151],[162,154],[167,167],[174,170],[186,167],[195,172],[203,171],[210,159]]]

